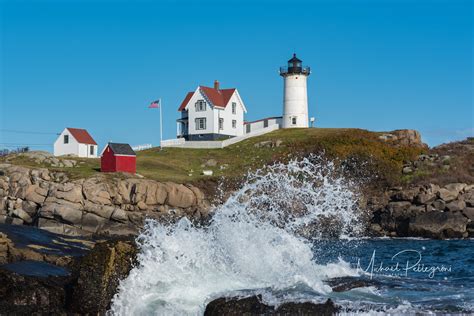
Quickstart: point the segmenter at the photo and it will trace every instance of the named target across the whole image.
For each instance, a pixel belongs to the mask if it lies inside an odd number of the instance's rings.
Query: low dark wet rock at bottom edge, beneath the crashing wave
[[[266,305],[260,295],[247,298],[218,298],[206,306],[205,316],[214,315],[333,315],[339,311],[330,299],[326,303],[285,303]]]

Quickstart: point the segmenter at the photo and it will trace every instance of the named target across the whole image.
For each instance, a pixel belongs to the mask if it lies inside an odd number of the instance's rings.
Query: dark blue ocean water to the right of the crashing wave
[[[337,256],[356,269],[357,280],[368,283],[327,295],[348,314],[474,314],[472,239],[380,238],[314,247],[321,263]]]

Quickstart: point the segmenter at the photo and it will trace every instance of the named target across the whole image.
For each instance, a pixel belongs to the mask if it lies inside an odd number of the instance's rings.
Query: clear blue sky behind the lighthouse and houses
[[[174,138],[186,92],[215,79],[246,119],[281,115],[293,52],[319,127],[474,134],[471,1],[0,0],[0,14],[0,148],[52,150],[66,126],[156,145],[148,104],[163,99]]]

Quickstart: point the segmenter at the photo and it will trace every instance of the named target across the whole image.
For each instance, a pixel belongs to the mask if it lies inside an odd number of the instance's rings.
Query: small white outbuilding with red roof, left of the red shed
[[[54,155],[97,158],[97,143],[85,129],[67,127],[54,142]]]

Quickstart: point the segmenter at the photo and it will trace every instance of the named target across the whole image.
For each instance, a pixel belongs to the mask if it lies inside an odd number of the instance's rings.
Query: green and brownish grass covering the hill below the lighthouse
[[[213,178],[239,178],[249,169],[274,161],[287,161],[310,153],[324,152],[329,158],[340,161],[348,158],[361,162],[370,161],[370,168],[373,170],[369,168],[369,172],[377,173],[390,183],[400,181],[403,162],[414,159],[422,150],[383,143],[378,135],[379,133],[360,129],[286,129],[250,138],[223,149],[152,148],[137,153],[137,173],[146,178],[179,183],[209,179],[202,175],[204,169],[212,170]],[[267,140],[281,140],[282,145],[273,148],[255,147],[255,144]],[[215,159],[217,166],[204,166],[209,159]],[[76,168],[55,170],[66,172],[71,178],[86,178],[99,172],[99,159],[76,160],[79,161]],[[31,165],[27,161],[13,162]],[[223,165],[227,167],[222,169]]]

